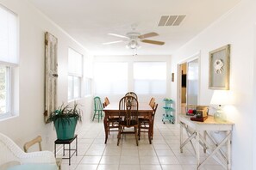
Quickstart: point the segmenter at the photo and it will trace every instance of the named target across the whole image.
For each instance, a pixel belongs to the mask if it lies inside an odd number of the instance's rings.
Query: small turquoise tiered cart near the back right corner
[[[173,116],[174,109],[172,108],[173,100],[169,98],[164,99],[165,106],[163,106],[165,113],[163,114],[162,122],[165,124],[165,121],[169,121],[174,124],[175,118]]]

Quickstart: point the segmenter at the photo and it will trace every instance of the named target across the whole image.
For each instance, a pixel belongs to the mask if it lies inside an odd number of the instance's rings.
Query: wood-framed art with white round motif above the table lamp
[[[230,45],[209,52],[209,89],[229,89]]]

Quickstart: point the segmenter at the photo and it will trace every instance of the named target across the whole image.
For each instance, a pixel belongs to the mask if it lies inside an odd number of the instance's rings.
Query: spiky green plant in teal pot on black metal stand
[[[82,122],[82,110],[77,102],[72,107],[62,104],[47,119],[47,122],[53,122],[59,140],[72,139],[78,121]]]

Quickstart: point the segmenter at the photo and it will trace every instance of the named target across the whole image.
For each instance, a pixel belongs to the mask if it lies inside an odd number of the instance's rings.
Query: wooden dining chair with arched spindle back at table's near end
[[[121,134],[134,134],[137,146],[138,143],[138,100],[132,95],[126,95],[119,101],[119,131],[117,135],[117,146],[120,143]],[[134,131],[129,131],[134,128]]]

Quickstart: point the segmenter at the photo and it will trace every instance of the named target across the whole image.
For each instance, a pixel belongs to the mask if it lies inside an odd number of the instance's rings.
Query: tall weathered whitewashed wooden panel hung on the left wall
[[[45,33],[45,112],[47,118],[50,112],[57,108],[57,78],[58,78],[58,39],[51,33]]]

